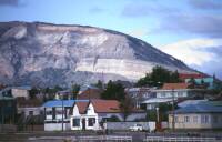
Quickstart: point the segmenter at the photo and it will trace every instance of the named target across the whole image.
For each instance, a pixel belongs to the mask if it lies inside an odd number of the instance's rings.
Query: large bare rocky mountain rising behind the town
[[[42,22],[0,22],[0,82],[6,84],[135,81],[162,65],[192,72],[142,40],[112,30]]]

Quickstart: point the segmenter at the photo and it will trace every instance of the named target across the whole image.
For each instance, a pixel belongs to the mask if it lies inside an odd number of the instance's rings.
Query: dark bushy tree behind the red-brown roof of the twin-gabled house
[[[107,89],[102,92],[101,98],[105,100],[121,101],[125,97],[124,88],[120,83],[108,82]]]

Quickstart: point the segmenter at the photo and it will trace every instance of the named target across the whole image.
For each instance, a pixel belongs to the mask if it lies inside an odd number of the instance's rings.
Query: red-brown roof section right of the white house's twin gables
[[[94,111],[101,112],[121,112],[120,102],[115,100],[91,100]]]

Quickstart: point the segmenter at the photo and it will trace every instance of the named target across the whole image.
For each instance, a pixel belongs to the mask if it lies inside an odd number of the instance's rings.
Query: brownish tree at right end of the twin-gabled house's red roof
[[[123,113],[124,121],[127,120],[128,115],[130,115],[133,108],[134,106],[133,106],[132,98],[130,98],[129,95],[125,95],[125,99],[120,102],[120,110]]]

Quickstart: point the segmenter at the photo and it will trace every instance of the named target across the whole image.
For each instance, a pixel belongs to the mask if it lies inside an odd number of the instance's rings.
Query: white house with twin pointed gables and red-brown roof
[[[115,100],[90,100],[89,102],[77,102],[70,118],[71,130],[100,130],[103,122],[110,118],[123,121],[120,103]],[[134,110],[127,121],[144,119],[144,111]]]

